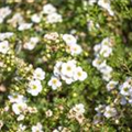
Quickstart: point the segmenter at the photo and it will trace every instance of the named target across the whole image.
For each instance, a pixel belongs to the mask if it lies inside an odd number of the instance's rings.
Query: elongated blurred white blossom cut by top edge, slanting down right
[[[114,15],[114,12],[112,11],[111,6],[110,6],[110,0],[99,0],[98,6],[106,9],[110,15]]]

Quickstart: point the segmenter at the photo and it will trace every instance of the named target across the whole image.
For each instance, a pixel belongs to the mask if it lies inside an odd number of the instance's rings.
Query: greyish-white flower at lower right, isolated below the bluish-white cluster
[[[116,108],[107,106],[103,116],[108,119],[111,118],[111,117],[116,117],[117,116]]]

